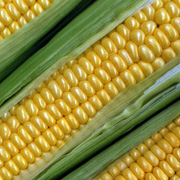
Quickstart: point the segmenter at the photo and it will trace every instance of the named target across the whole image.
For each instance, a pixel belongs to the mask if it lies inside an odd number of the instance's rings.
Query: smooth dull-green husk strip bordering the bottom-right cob
[[[128,133],[125,137],[87,161],[62,180],[92,179],[109,164],[113,163],[116,159],[120,158],[132,148],[135,148],[139,143],[142,143],[152,134],[174,120],[178,115],[180,115],[179,107],[180,100],[147,120],[144,124]]]

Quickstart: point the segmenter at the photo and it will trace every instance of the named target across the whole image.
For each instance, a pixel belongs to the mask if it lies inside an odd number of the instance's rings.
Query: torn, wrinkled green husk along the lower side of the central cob
[[[120,96],[115,98],[116,103],[110,102],[107,106],[105,106],[103,111],[100,111],[95,116],[94,121],[92,120],[76,137],[78,140],[82,138],[87,139],[64,157],[58,158],[58,156],[56,156],[56,162],[51,164],[51,166],[49,166],[45,172],[42,171],[38,179],[43,180],[45,177],[46,179],[63,177],[65,173],[77,166],[80,162],[102,150],[104,147],[132,129],[134,126],[143,122],[145,119],[149,118],[173,102],[175,99],[179,98],[179,69],[180,64],[158,78],[153,85],[148,88],[146,87],[146,89],[143,88],[144,86],[141,84],[141,89],[143,90],[140,91],[140,93],[144,92],[141,93],[141,95],[139,95],[139,92],[137,91],[138,85],[134,86],[133,88],[135,88],[135,92],[132,94],[135,97],[134,99],[132,98],[133,101],[130,102],[126,108],[120,106],[122,102],[118,101]],[[167,77],[167,79],[165,79],[165,77]],[[160,81],[162,82],[160,83]],[[149,91],[149,89],[151,89],[151,91]],[[126,100],[129,98],[131,99],[131,96],[125,97]],[[110,113],[109,111],[112,112]],[[98,127],[101,128],[98,129]],[[95,132],[91,135],[93,131]],[[88,136],[90,137],[88,138]],[[76,140],[74,139],[73,143],[75,143]]]

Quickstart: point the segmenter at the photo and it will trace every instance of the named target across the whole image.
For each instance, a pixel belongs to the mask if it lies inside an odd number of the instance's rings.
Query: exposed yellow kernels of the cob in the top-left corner
[[[1,0],[0,41],[50,8],[51,3],[52,0]]]

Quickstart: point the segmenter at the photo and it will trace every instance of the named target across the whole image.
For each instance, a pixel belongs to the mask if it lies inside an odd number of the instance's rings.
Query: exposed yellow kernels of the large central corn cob
[[[63,146],[120,91],[179,54],[179,13],[171,7],[179,12],[173,1],[156,1],[127,18],[2,116],[2,178]]]

